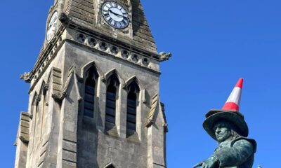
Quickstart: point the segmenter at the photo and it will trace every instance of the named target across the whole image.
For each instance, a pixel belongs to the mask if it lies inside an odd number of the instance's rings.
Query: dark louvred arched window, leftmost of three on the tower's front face
[[[93,111],[95,109],[96,97],[96,83],[98,73],[95,67],[91,67],[86,72],[85,94],[84,94],[84,116],[93,118]]]

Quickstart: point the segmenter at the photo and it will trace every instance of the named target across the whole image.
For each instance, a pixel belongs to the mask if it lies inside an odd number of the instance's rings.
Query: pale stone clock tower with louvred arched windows
[[[15,167],[166,167],[158,54],[139,0],[56,0]]]

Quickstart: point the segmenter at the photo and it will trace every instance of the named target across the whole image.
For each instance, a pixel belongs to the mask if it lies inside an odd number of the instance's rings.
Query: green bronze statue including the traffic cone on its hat
[[[202,168],[251,168],[254,163],[256,141],[248,139],[248,126],[239,112],[242,92],[240,79],[222,110],[211,110],[206,114],[204,130],[216,141],[218,148],[213,155],[195,167]]]

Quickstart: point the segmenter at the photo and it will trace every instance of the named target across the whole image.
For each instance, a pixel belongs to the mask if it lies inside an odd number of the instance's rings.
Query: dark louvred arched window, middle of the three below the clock
[[[110,130],[115,126],[115,116],[117,107],[117,92],[119,80],[115,74],[107,79],[106,108],[105,108],[105,128]]]

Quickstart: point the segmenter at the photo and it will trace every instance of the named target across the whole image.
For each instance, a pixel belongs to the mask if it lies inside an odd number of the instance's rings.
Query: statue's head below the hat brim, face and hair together
[[[227,139],[231,139],[235,135],[238,135],[235,131],[235,125],[228,122],[227,120],[219,120],[214,124],[213,129],[216,135],[216,140],[219,143],[226,141]]]

